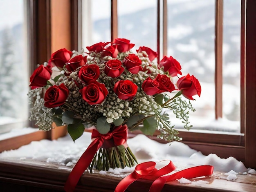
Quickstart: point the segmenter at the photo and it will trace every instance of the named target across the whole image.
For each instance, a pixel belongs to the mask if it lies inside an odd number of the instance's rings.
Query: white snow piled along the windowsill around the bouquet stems
[[[19,158],[24,161],[26,159],[34,159],[57,165],[65,165],[68,169],[68,167],[75,165],[90,142],[91,133],[88,132],[84,132],[75,142],[72,141],[69,135],[54,141],[46,139],[32,141],[29,145],[24,145],[17,150],[0,153],[0,159]],[[221,159],[216,154],[205,156],[201,152],[193,150],[181,142],[172,142],[171,145],[170,143],[163,144],[153,141],[143,134],[139,134],[134,138],[128,139],[127,143],[135,154],[138,163],[171,160],[177,167],[175,171],[197,165],[213,165],[213,176],[219,179],[227,179],[228,181],[236,179],[236,174],[256,173],[254,169],[245,167],[241,161],[236,160],[234,157]],[[60,169],[63,169],[63,167],[60,167]],[[130,172],[134,171],[134,169],[135,167],[125,167],[124,169],[115,168],[108,171],[99,171],[98,173],[124,178]],[[218,172],[226,172],[227,174],[220,175]],[[184,182],[186,183],[188,181],[180,179],[180,183]]]

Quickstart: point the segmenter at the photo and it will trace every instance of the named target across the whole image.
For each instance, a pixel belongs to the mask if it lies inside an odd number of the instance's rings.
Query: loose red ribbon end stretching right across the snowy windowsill
[[[214,167],[211,165],[201,165],[176,172],[172,175],[161,176],[152,183],[149,192],[161,191],[167,181],[181,179],[182,177],[192,179],[200,176],[211,175],[213,173],[213,168]]]

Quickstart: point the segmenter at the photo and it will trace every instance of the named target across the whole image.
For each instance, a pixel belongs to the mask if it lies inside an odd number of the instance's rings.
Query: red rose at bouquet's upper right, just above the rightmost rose
[[[172,77],[177,76],[177,74],[182,75],[180,63],[172,56],[169,58],[164,56],[160,61],[160,67],[164,67],[164,71],[169,71],[169,75]]]

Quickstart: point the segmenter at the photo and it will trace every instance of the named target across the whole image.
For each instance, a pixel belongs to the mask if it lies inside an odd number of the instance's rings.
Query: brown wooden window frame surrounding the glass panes
[[[30,71],[32,73],[36,68],[36,64],[45,62],[45,59],[49,58],[53,51],[63,47],[76,50],[79,48],[79,43],[76,43],[76,41],[79,41],[80,38],[79,27],[81,27],[81,20],[79,20],[79,11],[81,9],[79,9],[78,5],[81,0],[27,0],[27,2],[29,7],[29,37],[31,39],[29,43],[29,58],[31,62]],[[220,3],[222,0],[216,0],[217,2]],[[163,0],[162,4],[166,4],[166,0]],[[158,5],[160,5],[160,0],[158,0]],[[54,9],[54,7],[58,7],[58,9]],[[113,9],[111,38],[114,39],[118,36],[117,12],[115,11],[117,10],[117,0],[111,1],[111,7]],[[256,153],[256,140],[254,138],[256,135],[256,120],[254,118],[256,109],[255,9],[256,1],[241,0],[241,116],[243,117],[241,127],[244,127],[241,132],[245,135],[180,132],[180,136],[183,138],[182,142],[193,149],[200,150],[206,155],[215,153],[221,158],[234,156],[236,159],[243,161],[247,167],[256,167],[256,161],[254,161],[254,156],[252,155]],[[63,14],[67,20],[59,22],[63,20]],[[166,39],[166,11],[164,11],[163,22],[165,24],[160,24],[158,19],[157,26],[164,26],[163,36]],[[63,34],[59,36],[60,33]],[[158,36],[159,33],[157,33]],[[159,43],[158,46],[160,46]],[[163,43],[163,50],[166,50],[166,47],[167,44]],[[49,132],[38,131],[28,134],[32,135],[31,137],[25,135],[9,138],[0,141],[0,152],[16,149],[21,145],[43,138],[56,139],[65,134],[65,127],[56,127],[56,129]],[[155,136],[151,138],[157,140]],[[162,140],[159,142],[162,142]]]

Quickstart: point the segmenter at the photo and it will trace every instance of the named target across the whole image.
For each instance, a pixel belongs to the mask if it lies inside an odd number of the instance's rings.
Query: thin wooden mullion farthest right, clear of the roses
[[[223,0],[215,7],[215,118],[222,117]]]

